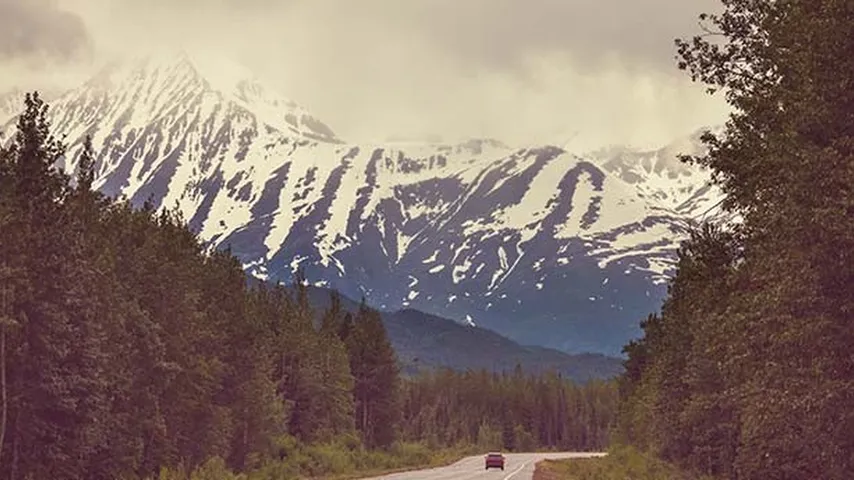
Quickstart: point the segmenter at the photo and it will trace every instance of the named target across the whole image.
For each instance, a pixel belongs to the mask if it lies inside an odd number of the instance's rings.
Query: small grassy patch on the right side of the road
[[[691,475],[630,447],[616,447],[600,458],[537,462],[534,480],[714,480]]]

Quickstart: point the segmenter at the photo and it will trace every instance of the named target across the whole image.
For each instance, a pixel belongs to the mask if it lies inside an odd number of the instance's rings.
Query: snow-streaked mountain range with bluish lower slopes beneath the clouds
[[[380,308],[570,352],[619,353],[639,333],[690,219],[718,200],[675,160],[696,138],[583,156],[347,144],[249,72],[196,55],[110,65],[51,112],[70,143],[63,167],[92,135],[96,187],[177,205],[260,278],[301,267]]]

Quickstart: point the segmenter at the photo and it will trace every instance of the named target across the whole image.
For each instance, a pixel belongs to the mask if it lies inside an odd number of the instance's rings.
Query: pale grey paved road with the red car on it
[[[508,453],[504,471],[484,469],[483,455],[468,457],[447,467],[417,470],[414,472],[394,473],[382,477],[364,480],[531,480],[534,465],[543,459],[599,457],[604,453]]]

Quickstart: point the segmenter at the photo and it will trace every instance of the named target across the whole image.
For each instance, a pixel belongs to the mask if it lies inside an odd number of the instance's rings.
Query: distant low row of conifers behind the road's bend
[[[484,450],[602,450],[616,411],[616,385],[573,385],[558,374],[441,370],[403,390],[401,435],[431,445]]]

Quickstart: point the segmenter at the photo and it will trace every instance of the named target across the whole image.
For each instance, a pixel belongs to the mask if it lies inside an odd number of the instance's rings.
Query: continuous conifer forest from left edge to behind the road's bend
[[[400,438],[472,442],[478,431],[403,426],[489,428],[487,410],[512,420],[508,447],[602,445],[613,388],[404,380],[378,312],[345,312],[337,297],[314,312],[299,279],[249,287],[178,213],[93,191],[88,139],[73,178],[57,169],[65,145],[47,106],[34,94],[25,107],[0,148],[0,479],[173,478],[162,469],[200,465],[317,475],[323,462],[365,464],[353,452],[421,458]]]

